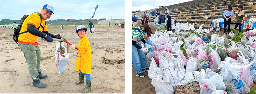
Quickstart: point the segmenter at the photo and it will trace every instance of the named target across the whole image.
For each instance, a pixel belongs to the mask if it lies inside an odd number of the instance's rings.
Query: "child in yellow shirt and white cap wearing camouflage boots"
[[[84,83],[86,79],[86,86],[82,89],[82,93],[91,91],[91,46],[88,38],[85,36],[87,28],[80,25],[76,28],[76,33],[80,37],[78,46],[71,45],[73,49],[77,49],[76,56],[76,71],[80,71],[79,80],[75,84]]]

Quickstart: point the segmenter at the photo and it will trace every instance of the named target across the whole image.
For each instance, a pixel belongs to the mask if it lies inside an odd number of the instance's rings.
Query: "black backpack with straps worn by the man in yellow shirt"
[[[37,13],[39,16],[40,16],[40,26],[43,28],[44,30],[44,27],[41,25],[42,23],[42,16],[39,12],[34,12],[34,13]],[[16,29],[14,29],[14,33],[13,33],[13,41],[15,41],[17,44],[18,44],[18,38],[19,38],[19,35],[20,34],[23,34],[23,33],[27,33],[28,31],[25,31],[25,32],[22,32],[20,33],[20,30],[21,30],[21,27],[22,27],[22,24],[24,22],[24,20],[28,17],[29,15],[24,15],[23,17],[21,17],[20,21],[19,21],[19,25]],[[44,20],[45,21],[45,20]],[[45,21],[45,25],[46,25],[46,21]],[[44,26],[45,26],[44,25]],[[39,30],[40,26],[37,28]],[[19,46],[19,44],[18,44]]]

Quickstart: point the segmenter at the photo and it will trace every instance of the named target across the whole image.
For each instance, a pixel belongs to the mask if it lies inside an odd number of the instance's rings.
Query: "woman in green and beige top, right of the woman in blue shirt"
[[[239,28],[239,32],[241,32],[242,31],[242,28],[241,28],[241,26],[242,26],[242,24],[243,24],[243,22],[244,22],[244,19],[245,19],[245,15],[244,15],[244,8],[243,8],[243,5],[238,5],[238,11],[237,11],[237,14],[236,14],[236,16],[234,17],[234,19],[233,19],[233,22],[235,21],[235,18],[237,17],[237,19],[236,19],[236,26],[235,26],[235,30],[236,30],[236,28],[237,28],[237,26],[238,26],[238,28]]]

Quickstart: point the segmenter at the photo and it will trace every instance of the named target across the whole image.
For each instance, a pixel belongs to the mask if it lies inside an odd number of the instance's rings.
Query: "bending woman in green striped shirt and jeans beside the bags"
[[[148,50],[141,47],[140,41],[149,48],[153,48],[153,46],[146,43],[144,36],[150,37],[151,34],[155,34],[155,29],[155,24],[152,22],[132,29],[132,63],[136,71],[136,76],[145,77],[145,74],[142,72],[148,71],[144,54],[144,52],[148,52]]]

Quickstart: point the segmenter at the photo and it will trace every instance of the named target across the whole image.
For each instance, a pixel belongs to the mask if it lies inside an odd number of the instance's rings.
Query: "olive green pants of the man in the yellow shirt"
[[[28,72],[31,78],[38,76],[38,70],[40,70],[41,51],[39,45],[32,44],[21,44],[19,43],[20,49],[28,64]]]

